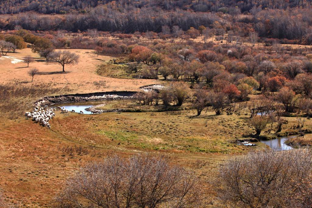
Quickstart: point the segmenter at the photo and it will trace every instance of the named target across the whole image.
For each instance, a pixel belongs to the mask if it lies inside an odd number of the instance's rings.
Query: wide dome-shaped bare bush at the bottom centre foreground
[[[194,173],[164,157],[113,156],[80,169],[56,196],[54,207],[194,207],[201,202]]]

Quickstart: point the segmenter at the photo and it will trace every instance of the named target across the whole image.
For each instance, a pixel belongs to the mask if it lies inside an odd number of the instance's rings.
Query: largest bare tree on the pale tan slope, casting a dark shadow
[[[71,53],[69,51],[54,51],[49,53],[47,56],[49,62],[56,62],[62,65],[63,72],[65,72],[65,64],[72,65],[78,64],[79,56],[76,53]]]

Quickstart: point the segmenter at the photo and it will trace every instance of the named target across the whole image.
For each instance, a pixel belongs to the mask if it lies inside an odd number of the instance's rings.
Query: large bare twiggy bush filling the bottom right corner
[[[229,160],[214,185],[227,207],[311,207],[311,173],[310,149],[258,151]]]

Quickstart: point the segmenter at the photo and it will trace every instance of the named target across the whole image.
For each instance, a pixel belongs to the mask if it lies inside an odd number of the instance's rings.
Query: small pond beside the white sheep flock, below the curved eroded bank
[[[112,102],[114,100],[102,100],[102,101],[87,101],[87,102],[68,102],[68,103],[61,103],[49,106],[51,108],[56,108],[60,106],[61,108],[65,107],[66,110],[71,111],[74,110],[76,113],[82,111],[84,114],[91,114],[90,111],[86,111],[86,108],[90,108],[95,105],[106,104]]]

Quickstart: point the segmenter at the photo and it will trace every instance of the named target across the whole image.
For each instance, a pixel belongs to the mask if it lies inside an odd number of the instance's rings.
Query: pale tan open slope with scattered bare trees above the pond
[[[22,82],[25,85],[31,85],[31,77],[27,72],[32,68],[38,68],[40,74],[34,77],[34,83],[53,83],[56,87],[68,87],[71,93],[105,92],[105,91],[138,91],[139,87],[144,85],[161,83],[157,80],[148,79],[118,79],[102,77],[96,73],[99,65],[108,62],[112,57],[96,57],[93,50],[84,49],[66,49],[75,52],[80,56],[80,62],[77,65],[65,66],[65,73],[59,64],[47,63],[45,58],[39,57],[37,53],[32,53],[31,48],[17,50],[17,53],[10,53],[6,58],[0,59],[0,83]],[[30,55],[34,57],[35,62],[29,64],[17,62],[23,57]],[[11,58],[14,58],[12,63]],[[100,86],[99,86],[99,83]]]

